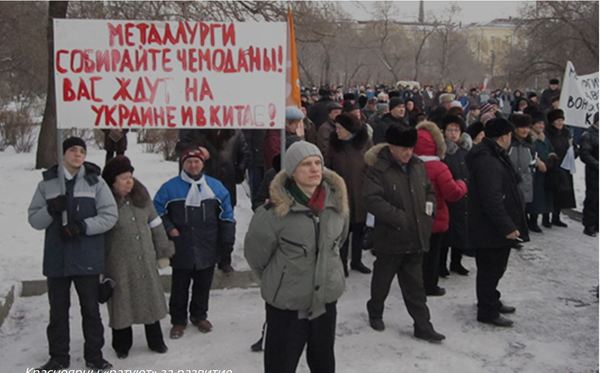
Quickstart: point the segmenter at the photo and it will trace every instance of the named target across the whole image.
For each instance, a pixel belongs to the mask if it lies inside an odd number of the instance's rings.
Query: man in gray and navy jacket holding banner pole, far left
[[[104,271],[104,233],[117,222],[117,204],[100,177],[100,168],[84,162],[85,142],[70,137],[63,142],[65,194],[58,167],[43,173],[28,215],[29,224],[46,231],[44,275],[48,284],[50,322],[47,328],[50,360],[41,371],[69,367],[69,306],[75,284],[83,318],[84,358],[90,369],[110,369],[102,357],[104,329],[98,306],[99,275]],[[62,223],[66,212],[67,224]]]

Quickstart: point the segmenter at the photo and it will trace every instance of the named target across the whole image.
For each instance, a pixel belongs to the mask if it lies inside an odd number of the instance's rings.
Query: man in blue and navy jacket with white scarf
[[[231,252],[235,241],[229,192],[219,180],[203,174],[209,156],[203,147],[183,151],[181,173],[164,183],[154,197],[156,211],[175,243],[169,300],[172,339],[183,336],[187,325],[192,281],[190,321],[202,333],[212,330],[206,318],[218,248]]]

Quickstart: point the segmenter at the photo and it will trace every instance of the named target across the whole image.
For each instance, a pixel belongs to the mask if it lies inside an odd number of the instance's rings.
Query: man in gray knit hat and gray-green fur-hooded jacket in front
[[[348,236],[346,185],[306,141],[295,142],[284,163],[244,242],[266,302],[265,372],[294,373],[306,345],[311,373],[333,373],[336,302],[345,286],[339,252]]]

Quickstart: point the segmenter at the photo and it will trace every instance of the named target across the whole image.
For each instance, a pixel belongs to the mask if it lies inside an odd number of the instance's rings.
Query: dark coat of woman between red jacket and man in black
[[[455,180],[462,180],[468,186],[469,169],[467,168],[467,154],[473,143],[467,133],[463,133],[457,143],[446,140],[446,157],[444,163],[448,165],[452,177]],[[468,193],[456,202],[448,202],[448,211],[450,212],[450,223],[448,234],[446,235],[446,245],[457,248],[469,247],[469,210]]]

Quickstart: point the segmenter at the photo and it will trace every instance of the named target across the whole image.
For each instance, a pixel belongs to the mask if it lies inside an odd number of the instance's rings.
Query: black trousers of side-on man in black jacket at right
[[[498,283],[506,271],[510,246],[499,249],[479,249],[475,252],[477,263],[477,318],[492,320],[500,315],[502,306]]]

